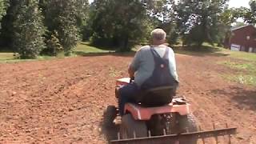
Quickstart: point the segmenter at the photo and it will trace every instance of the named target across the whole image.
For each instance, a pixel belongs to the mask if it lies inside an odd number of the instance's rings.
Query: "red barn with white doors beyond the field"
[[[256,53],[256,28],[248,25],[231,29],[231,36],[226,39],[225,46],[230,50]]]

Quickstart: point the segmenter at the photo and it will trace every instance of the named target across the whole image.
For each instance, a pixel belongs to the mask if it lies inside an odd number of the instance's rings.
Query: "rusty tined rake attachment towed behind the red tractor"
[[[225,129],[215,129],[214,130],[200,130],[197,132],[182,133],[182,134],[166,134],[165,130],[161,136],[151,136],[150,131],[148,137],[146,138],[136,138],[134,133],[134,138],[121,139],[120,134],[118,134],[118,139],[113,140],[111,144],[179,144],[181,141],[182,144],[189,144],[187,142],[193,139],[202,139],[202,143],[205,144],[205,138],[214,138],[216,143],[218,143],[218,137],[227,136],[228,143],[231,143],[231,134],[236,133],[236,128],[228,128],[226,125]]]

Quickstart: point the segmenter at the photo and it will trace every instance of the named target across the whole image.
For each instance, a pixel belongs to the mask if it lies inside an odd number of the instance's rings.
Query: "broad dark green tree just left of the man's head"
[[[139,0],[95,0],[90,12],[93,44],[127,51],[145,35],[146,7]]]

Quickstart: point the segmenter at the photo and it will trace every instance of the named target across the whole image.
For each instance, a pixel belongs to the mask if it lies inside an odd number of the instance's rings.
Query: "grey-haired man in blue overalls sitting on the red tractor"
[[[128,73],[130,78],[134,78],[134,82],[130,82],[119,90],[118,102],[121,115],[124,113],[126,102],[138,102],[138,94],[142,90],[159,86],[178,86],[174,51],[165,45],[166,32],[155,29],[150,36],[152,45],[142,46],[129,66]],[[167,97],[170,96],[167,95]]]

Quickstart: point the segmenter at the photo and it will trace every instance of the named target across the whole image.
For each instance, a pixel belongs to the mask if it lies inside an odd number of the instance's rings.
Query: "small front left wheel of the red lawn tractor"
[[[115,106],[107,106],[106,110],[103,114],[103,124],[104,126],[112,126],[114,122],[114,118],[117,117],[117,110]]]

